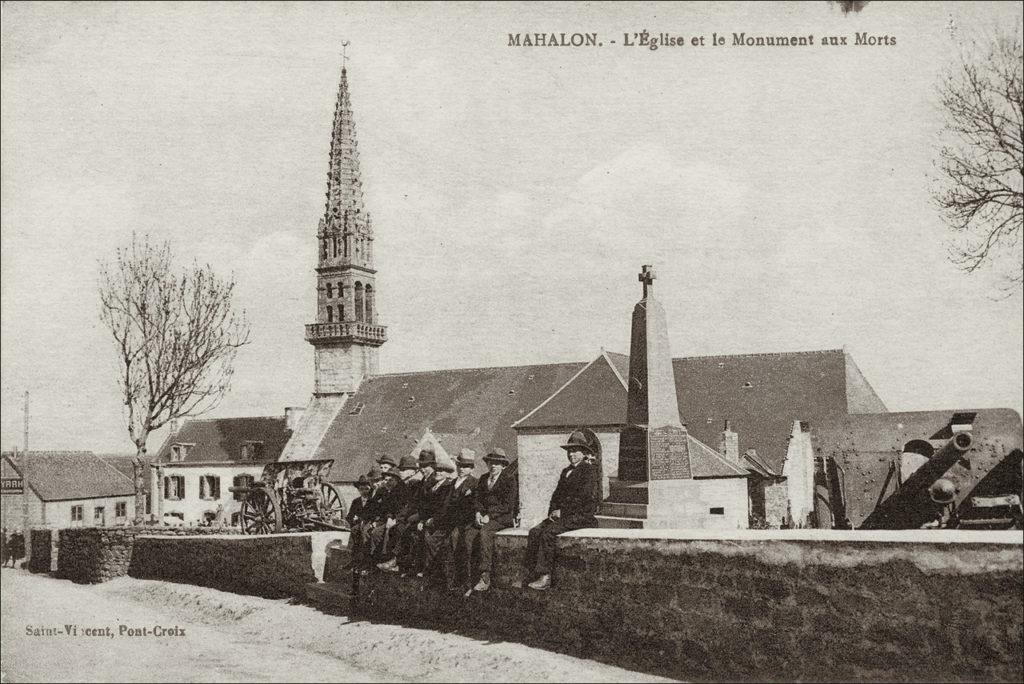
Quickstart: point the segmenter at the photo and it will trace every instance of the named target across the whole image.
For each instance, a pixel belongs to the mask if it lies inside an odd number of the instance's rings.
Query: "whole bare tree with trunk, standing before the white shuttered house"
[[[249,343],[245,312],[232,307],[233,291],[234,282],[218,277],[209,264],[176,268],[170,245],[147,237],[133,234],[113,261],[100,263],[100,319],[114,337],[136,450],[136,524],[145,510],[150,434],[216,407],[230,385],[239,347]]]

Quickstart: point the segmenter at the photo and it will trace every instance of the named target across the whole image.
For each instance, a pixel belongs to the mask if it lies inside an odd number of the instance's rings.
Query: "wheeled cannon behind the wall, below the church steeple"
[[[334,460],[276,461],[263,467],[258,480],[232,486],[243,496],[241,522],[246,535],[348,529],[345,500],[327,481]]]

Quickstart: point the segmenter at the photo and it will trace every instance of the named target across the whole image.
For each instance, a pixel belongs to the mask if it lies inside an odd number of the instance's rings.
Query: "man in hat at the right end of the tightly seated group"
[[[503,448],[492,448],[483,457],[489,472],[476,483],[475,526],[467,532],[467,548],[479,545],[479,582],[473,591],[485,592],[490,589],[490,572],[494,569],[495,536],[511,527],[519,512],[519,482],[508,471],[509,457]]]

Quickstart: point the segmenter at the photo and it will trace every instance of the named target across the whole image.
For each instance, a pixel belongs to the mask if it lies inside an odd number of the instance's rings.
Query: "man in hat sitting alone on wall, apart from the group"
[[[555,538],[562,532],[582,527],[596,527],[597,467],[587,462],[587,455],[594,448],[580,430],[569,435],[562,444],[569,465],[558,477],[558,485],[551,495],[548,517],[529,530],[526,543],[526,580],[537,578],[530,589],[551,587],[551,567],[555,554]]]

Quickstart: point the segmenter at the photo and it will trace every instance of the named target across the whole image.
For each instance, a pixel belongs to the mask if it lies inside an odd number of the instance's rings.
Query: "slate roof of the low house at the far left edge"
[[[134,495],[131,480],[92,452],[29,452],[7,465],[27,474],[32,490],[43,501],[100,499]]]

